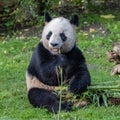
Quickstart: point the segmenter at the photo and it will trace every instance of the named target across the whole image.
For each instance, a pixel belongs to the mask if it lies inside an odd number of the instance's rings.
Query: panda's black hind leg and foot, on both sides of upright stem
[[[57,113],[59,110],[59,97],[50,91],[40,88],[32,88],[28,92],[28,98],[34,107],[45,107],[50,112],[54,113]],[[62,102],[61,110],[69,111],[70,108],[71,103]]]

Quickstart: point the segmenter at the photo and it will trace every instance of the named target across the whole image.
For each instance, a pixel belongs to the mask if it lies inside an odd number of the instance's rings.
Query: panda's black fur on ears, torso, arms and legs
[[[49,22],[48,14],[47,18],[46,21]],[[71,23],[77,25],[74,19]],[[68,89],[71,92],[75,94],[84,92],[90,85],[90,74],[85,58],[76,45],[69,52],[52,54],[44,47],[43,42],[40,42],[33,53],[26,77],[36,77],[38,81],[45,85],[59,86],[60,75],[58,79],[56,73],[58,66],[62,67],[63,79],[67,80]],[[59,96],[44,88],[31,87],[28,89],[28,98],[34,107],[45,107],[54,113],[59,110]],[[62,102],[61,110],[68,111],[70,108],[70,102]]]

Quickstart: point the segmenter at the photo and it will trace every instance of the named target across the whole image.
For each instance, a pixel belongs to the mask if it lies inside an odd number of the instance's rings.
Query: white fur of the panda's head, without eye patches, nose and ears
[[[52,36],[48,41],[46,36],[49,32],[52,32]],[[67,40],[63,42],[60,37],[60,33],[64,33],[67,37]],[[76,35],[74,26],[70,21],[63,17],[58,17],[52,19],[43,29],[42,33],[42,42],[46,49],[48,49],[53,54],[58,53],[59,49],[61,53],[66,53],[70,51],[75,45]],[[51,43],[57,43],[58,45],[53,47]]]

